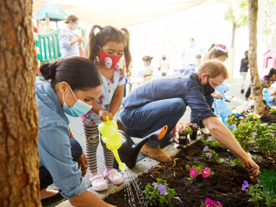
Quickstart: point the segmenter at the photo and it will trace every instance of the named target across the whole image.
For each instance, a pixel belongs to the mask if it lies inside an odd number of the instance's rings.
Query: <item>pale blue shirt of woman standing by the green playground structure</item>
[[[80,56],[80,51],[78,49],[78,42],[70,46],[70,41],[77,39],[74,32],[68,27],[64,27],[60,30],[58,34],[58,41],[60,44],[61,57],[72,57]]]

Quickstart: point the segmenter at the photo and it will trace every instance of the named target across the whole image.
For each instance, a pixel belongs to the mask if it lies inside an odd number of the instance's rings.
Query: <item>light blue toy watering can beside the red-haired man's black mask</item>
[[[227,99],[225,97],[225,92],[227,92],[229,90],[229,87],[227,85],[225,85],[224,83],[222,83],[221,85],[219,85],[218,87],[216,87],[216,91],[219,91],[221,93],[221,95],[223,96],[222,99],[214,99],[213,102],[213,108],[215,110],[215,114],[216,115],[220,115],[222,122],[230,129],[237,129],[237,127],[235,125],[230,126],[229,124],[226,123],[226,118],[228,116],[231,116],[232,114],[232,110],[230,108],[227,107],[225,101],[232,101],[232,98]]]

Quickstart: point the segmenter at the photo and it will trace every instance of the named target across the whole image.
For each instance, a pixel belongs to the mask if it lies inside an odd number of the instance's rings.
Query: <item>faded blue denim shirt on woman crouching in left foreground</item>
[[[77,163],[72,160],[69,120],[51,82],[36,77],[35,89],[39,115],[39,167],[45,166],[50,172],[64,198],[81,195],[88,186]]]

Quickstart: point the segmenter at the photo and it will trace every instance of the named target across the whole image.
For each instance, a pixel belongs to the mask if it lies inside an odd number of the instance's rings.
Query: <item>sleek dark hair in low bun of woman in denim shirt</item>
[[[40,72],[45,80],[51,80],[53,89],[57,83],[63,81],[70,85],[72,91],[85,91],[102,85],[97,67],[84,57],[69,57],[55,62],[43,61]]]

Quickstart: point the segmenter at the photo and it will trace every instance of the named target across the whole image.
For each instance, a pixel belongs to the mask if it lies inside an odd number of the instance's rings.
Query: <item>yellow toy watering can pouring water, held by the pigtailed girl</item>
[[[118,132],[117,123],[113,120],[109,120],[108,116],[106,116],[106,121],[99,124],[98,130],[101,133],[101,140],[106,143],[106,147],[113,152],[114,157],[119,164],[119,169],[125,170],[127,166],[121,162],[118,154],[118,149],[123,143],[123,135]]]

